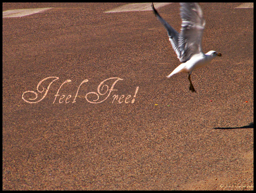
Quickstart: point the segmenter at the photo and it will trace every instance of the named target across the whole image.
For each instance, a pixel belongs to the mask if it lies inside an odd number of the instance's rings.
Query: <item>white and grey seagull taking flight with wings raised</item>
[[[159,15],[152,3],[152,9],[158,20],[166,28],[172,48],[181,62],[167,78],[180,72],[188,73],[188,80],[190,82],[189,90],[196,92],[191,82],[191,73],[193,70],[209,64],[213,58],[222,55],[216,51],[209,51],[207,53],[203,53],[202,51],[202,36],[205,20],[203,18],[203,11],[198,3],[180,3],[180,6],[182,23],[181,32],[178,33]]]

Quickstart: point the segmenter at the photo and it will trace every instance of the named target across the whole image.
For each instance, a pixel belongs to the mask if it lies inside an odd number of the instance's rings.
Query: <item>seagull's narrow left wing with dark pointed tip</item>
[[[174,48],[174,51],[177,54],[177,57],[181,57],[181,53],[179,51],[179,33],[174,30],[167,22],[164,20],[158,13],[158,11],[155,10],[154,4],[152,3],[152,9],[155,12],[155,15],[158,17],[158,20],[164,25],[168,32],[169,40],[171,41],[172,48]]]

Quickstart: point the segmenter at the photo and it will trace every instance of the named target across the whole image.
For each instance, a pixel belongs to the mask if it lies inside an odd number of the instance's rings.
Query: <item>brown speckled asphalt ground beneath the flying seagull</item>
[[[121,5],[3,3],[53,7],[3,18],[3,190],[253,190],[253,9],[200,3],[222,57],[191,93],[166,78],[180,63],[162,24],[105,13]],[[180,29],[179,4],[159,13]]]

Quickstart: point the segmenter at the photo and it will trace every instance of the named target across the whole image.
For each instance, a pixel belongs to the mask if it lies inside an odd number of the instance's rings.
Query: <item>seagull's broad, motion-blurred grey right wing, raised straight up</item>
[[[203,11],[197,3],[180,3],[181,32],[179,36],[180,61],[202,52],[202,37],[205,26]]]

